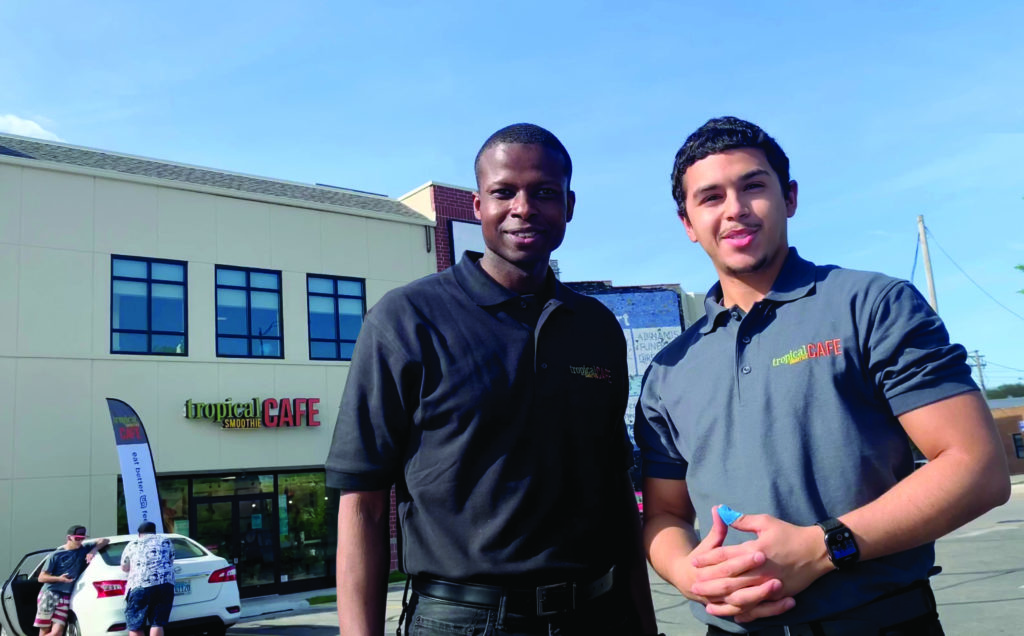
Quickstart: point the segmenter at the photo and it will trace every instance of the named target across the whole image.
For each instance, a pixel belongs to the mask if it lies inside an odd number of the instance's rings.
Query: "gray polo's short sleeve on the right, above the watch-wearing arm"
[[[867,332],[867,369],[896,416],[977,390],[967,350],[921,293],[900,281],[879,299]]]

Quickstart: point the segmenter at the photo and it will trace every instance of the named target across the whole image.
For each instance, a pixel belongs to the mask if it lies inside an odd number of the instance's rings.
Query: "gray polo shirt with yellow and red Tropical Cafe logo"
[[[685,479],[700,527],[727,504],[798,525],[838,517],[913,470],[898,416],[976,390],[964,347],[908,283],[816,266],[790,250],[764,300],[743,315],[720,303],[651,363],[635,434],[649,477]],[[941,425],[937,422],[936,425]],[[727,544],[753,536],[729,531]],[[797,606],[742,632],[861,605],[927,577],[928,544],[817,580]]]

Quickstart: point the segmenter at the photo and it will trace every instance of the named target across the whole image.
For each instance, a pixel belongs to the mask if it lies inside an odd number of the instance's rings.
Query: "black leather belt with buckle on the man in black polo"
[[[571,611],[583,603],[607,593],[614,580],[613,573],[614,567],[589,583],[569,581],[526,589],[413,577],[413,590],[423,596],[462,605],[498,608],[504,603],[507,613],[548,617]]]

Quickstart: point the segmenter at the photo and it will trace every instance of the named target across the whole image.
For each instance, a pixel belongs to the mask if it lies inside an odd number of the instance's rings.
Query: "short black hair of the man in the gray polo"
[[[757,124],[738,117],[718,117],[710,119],[686,137],[672,168],[672,198],[676,200],[679,216],[686,216],[686,190],[683,175],[686,169],[701,159],[738,147],[753,147],[762,151],[768,165],[778,175],[782,194],[790,195],[790,158],[782,147]]]

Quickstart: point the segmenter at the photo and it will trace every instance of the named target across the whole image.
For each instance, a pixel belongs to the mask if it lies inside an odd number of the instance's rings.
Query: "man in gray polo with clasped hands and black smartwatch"
[[[788,246],[797,182],[754,124],[691,134],[673,196],[719,282],[637,405],[654,568],[709,634],[941,634],[933,542],[1010,493],[964,347],[908,283]]]

